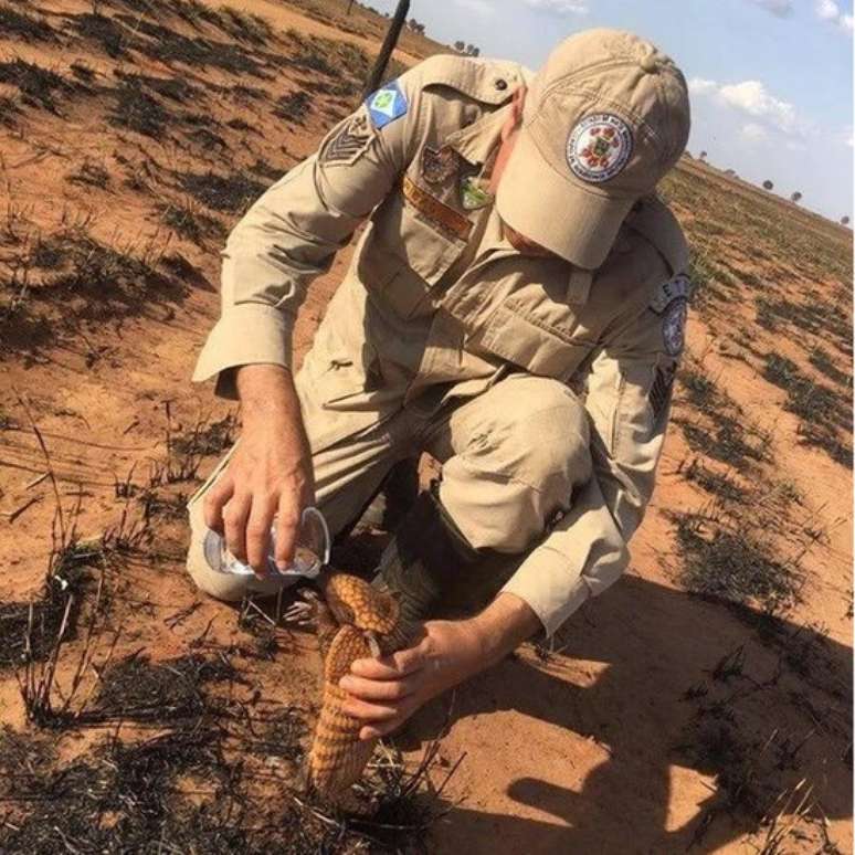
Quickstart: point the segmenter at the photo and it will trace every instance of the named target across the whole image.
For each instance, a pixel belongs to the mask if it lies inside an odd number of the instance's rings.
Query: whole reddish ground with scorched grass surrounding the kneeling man
[[[0,2],[0,849],[851,852],[852,236],[688,159],[662,191],[698,291],[632,570],[378,751],[370,823],[303,796],[314,637],[183,574],[239,430],[188,377],[225,235],[381,27]]]

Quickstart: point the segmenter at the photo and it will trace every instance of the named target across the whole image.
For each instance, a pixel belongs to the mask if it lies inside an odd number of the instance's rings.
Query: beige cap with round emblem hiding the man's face
[[[688,131],[686,81],[673,60],[620,30],[572,35],[526,94],[496,193],[499,215],[577,266],[599,267]]]

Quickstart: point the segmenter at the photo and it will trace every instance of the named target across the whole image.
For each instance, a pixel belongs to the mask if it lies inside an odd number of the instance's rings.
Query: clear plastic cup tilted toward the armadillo
[[[212,570],[218,573],[231,573],[232,576],[255,576],[255,571],[243,561],[239,561],[225,547],[222,535],[208,529],[202,545],[205,560]],[[271,528],[271,546],[267,552],[267,567],[265,578],[282,579],[293,577],[299,579],[313,579],[320,572],[320,568],[329,562],[330,538],[327,521],[324,515],[315,507],[306,508],[300,516],[300,526],[297,531],[297,541],[294,547],[294,560],[284,570],[276,567],[274,558],[276,550],[276,527]]]

